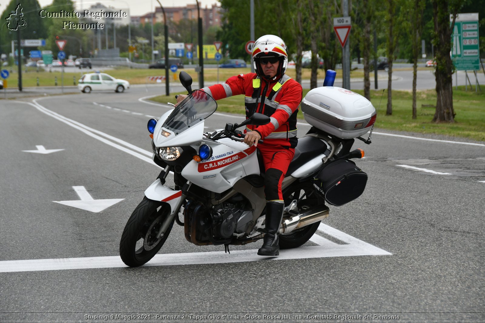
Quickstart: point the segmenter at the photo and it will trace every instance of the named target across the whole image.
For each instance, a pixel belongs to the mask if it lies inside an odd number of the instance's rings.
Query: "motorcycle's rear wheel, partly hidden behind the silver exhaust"
[[[291,185],[283,191],[283,199],[285,206],[288,206],[292,200],[297,200],[300,213],[325,203],[323,197],[315,191],[313,184],[310,182]],[[303,228],[296,229],[288,234],[281,234],[279,236],[279,247],[281,249],[291,249],[303,245],[317,231],[320,222],[318,221]]]

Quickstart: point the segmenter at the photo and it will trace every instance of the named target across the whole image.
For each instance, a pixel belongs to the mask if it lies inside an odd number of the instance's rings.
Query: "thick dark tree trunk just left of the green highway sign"
[[[450,57],[451,37],[456,14],[461,8],[461,0],[432,0],[433,21],[435,23],[436,54],[436,112],[433,122],[454,122],[453,110],[453,63]],[[452,23],[450,24],[450,14]]]

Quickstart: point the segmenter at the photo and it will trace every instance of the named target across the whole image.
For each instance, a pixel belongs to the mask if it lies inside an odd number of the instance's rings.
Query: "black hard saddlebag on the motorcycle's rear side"
[[[325,200],[340,206],[358,198],[367,184],[367,174],[350,159],[337,159],[325,165],[318,174]]]

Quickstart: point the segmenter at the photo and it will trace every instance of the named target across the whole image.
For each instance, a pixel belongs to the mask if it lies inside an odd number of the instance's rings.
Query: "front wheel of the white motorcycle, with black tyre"
[[[175,217],[163,237],[157,239],[157,232],[168,215],[170,207],[166,204],[146,197],[138,204],[121,235],[120,257],[124,263],[130,267],[141,266],[157,254],[174,225]]]

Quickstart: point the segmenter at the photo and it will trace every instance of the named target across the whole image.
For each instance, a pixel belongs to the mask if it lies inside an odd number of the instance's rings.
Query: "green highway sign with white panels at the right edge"
[[[450,16],[453,21],[453,16]],[[480,69],[478,13],[458,14],[452,34],[452,59],[459,71]]]

